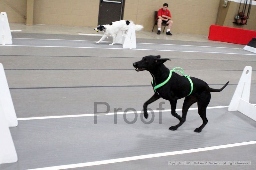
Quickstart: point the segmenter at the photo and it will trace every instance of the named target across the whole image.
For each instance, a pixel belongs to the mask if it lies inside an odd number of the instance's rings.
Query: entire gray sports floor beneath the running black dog
[[[137,39],[137,49],[130,50],[118,44],[109,46],[108,42],[96,44],[94,41],[100,37],[95,36],[32,33],[12,33],[12,36],[12,46],[0,46],[0,62],[5,68],[18,118],[92,114],[94,102],[107,102],[110,112],[114,108],[142,110],[143,103],[153,95],[152,78],[146,71],[136,72],[132,63],[146,55],[169,58],[172,61],[166,62],[167,67],[182,67],[185,74],[206,81],[212,88],[220,88],[230,81],[222,92],[212,93],[209,106],[229,105],[242,70],[252,66],[250,103],[256,103],[256,55],[242,50],[243,45]],[[165,100],[159,99],[149,107],[156,110],[162,101]],[[178,101],[177,109],[182,107],[182,102],[183,99]],[[170,109],[170,103],[165,101],[163,107]],[[105,110],[104,106],[97,108],[98,112]],[[193,132],[201,124],[196,110],[189,111],[187,122],[177,131],[168,130],[178,123],[168,112],[162,114],[162,124],[158,114],[151,124],[143,124],[140,115],[134,124],[126,124],[123,115],[117,116],[117,124],[113,115],[98,117],[97,124],[93,124],[93,117],[20,120],[18,127],[10,128],[18,162],[2,164],[1,169],[59,166],[256,140],[256,122],[240,112],[208,109],[207,117],[209,123],[201,133]],[[133,118],[133,114],[127,115],[128,120]],[[246,145],[86,169],[223,169],[221,166],[167,166],[168,161],[206,159],[252,161],[252,166],[227,167],[255,169],[255,148],[256,145]]]

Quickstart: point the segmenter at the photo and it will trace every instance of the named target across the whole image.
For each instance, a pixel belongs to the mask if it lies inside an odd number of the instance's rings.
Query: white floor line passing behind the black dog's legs
[[[256,105],[256,104],[253,104]],[[207,109],[218,109],[218,108],[228,108],[228,106],[213,106],[207,107]],[[181,111],[182,109],[176,109],[176,111]],[[189,108],[188,110],[198,110],[198,108]],[[171,109],[168,110],[161,110],[162,112],[170,112]],[[159,110],[153,110],[154,113],[158,113]],[[143,113],[142,111],[137,111],[137,113]],[[148,111],[150,113],[150,111]],[[97,114],[97,116],[106,116],[106,115],[123,115],[124,112],[117,112],[117,113],[106,113],[106,114]],[[125,114],[134,114],[133,111],[128,111]],[[64,116],[44,116],[44,117],[24,117],[24,118],[17,118],[18,120],[37,120],[37,119],[54,119],[54,118],[67,118],[67,117],[88,117],[88,116],[95,116],[95,114],[81,114],[81,115],[64,115]]]

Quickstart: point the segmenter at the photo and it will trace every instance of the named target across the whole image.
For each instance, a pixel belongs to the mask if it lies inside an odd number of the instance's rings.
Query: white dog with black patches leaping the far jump
[[[114,45],[116,40],[116,35],[119,31],[127,31],[129,29],[129,24],[133,24],[132,21],[126,21],[126,20],[120,20],[112,22],[108,25],[98,25],[94,30],[96,32],[102,31],[104,32],[104,35],[101,37],[99,41],[96,41],[96,43],[100,43],[104,39],[106,39],[108,36],[112,36],[113,42],[109,45]],[[140,31],[143,29],[143,25],[135,25],[135,30]]]

